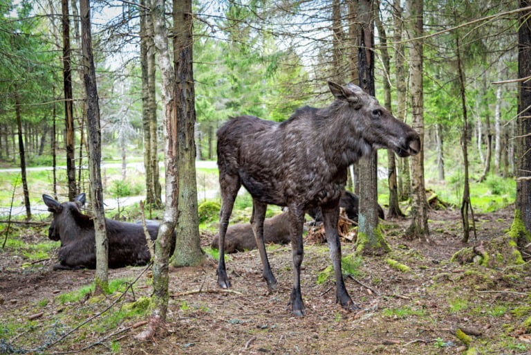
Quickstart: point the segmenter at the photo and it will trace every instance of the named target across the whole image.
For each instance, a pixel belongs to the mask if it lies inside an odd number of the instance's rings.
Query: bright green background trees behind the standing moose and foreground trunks
[[[429,1],[425,4],[422,78],[427,188],[454,203],[460,201],[462,194],[463,107],[456,48],[456,38],[460,38],[470,181],[486,180],[488,187],[472,193],[473,205],[478,203],[481,210],[500,208],[514,199],[513,180],[505,178],[514,176],[515,172],[512,137],[515,136],[517,95],[516,83],[511,79],[516,76],[517,17],[513,13],[503,14],[517,5],[516,1]],[[407,52],[411,42],[405,40],[404,29],[407,9],[404,12],[404,3],[400,1],[384,1],[375,6],[378,6],[376,93],[383,102],[384,87],[389,85],[391,110],[411,122],[409,100],[404,100],[410,95]],[[101,98],[104,161],[120,158],[124,163],[127,158],[133,161],[133,157],[140,158],[145,145],[143,120],[147,118],[142,116],[145,94],[141,67],[151,64],[142,64],[146,57],[140,56],[140,8],[141,5],[120,1],[93,3],[93,49]],[[351,11],[347,3],[340,1],[289,5],[261,1],[195,2],[197,158],[215,160],[215,131],[228,116],[251,114],[281,121],[304,104],[319,107],[330,102],[326,81],[346,83],[355,78],[357,71],[357,61],[353,60]],[[64,34],[60,4],[3,1],[1,12],[0,161],[6,167],[16,167],[24,156],[28,166],[65,165],[68,130],[64,118]],[[67,151],[79,168],[86,165],[87,149],[77,12],[73,1],[69,51],[74,141]],[[471,24],[463,26],[467,22]],[[158,74],[152,70],[149,75]],[[160,78],[154,80],[159,82]],[[158,87],[154,85],[156,91]],[[159,97],[160,93],[156,95]],[[158,118],[153,134],[159,137],[159,154],[163,134],[160,110],[158,104],[157,114],[149,118]],[[24,147],[22,152],[21,147]],[[385,167],[383,155],[380,154],[380,166]],[[409,174],[405,168],[399,174],[398,190],[402,199],[408,194],[407,181],[402,185],[402,176]],[[66,188],[63,172],[59,170],[48,187],[51,190],[57,186],[59,194],[64,194]],[[84,175],[78,171],[75,179],[83,181]],[[14,183],[17,176],[9,180]],[[3,201],[10,198],[12,190],[12,186],[3,189]],[[32,201],[39,200],[40,191],[34,193],[31,187],[28,190]],[[133,190],[138,192],[138,188]],[[380,192],[385,190],[380,188]],[[17,196],[21,194],[17,192]]]

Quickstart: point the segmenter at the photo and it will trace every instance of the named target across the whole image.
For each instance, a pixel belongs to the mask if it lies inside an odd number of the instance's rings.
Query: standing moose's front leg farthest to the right
[[[341,271],[341,243],[337,233],[337,222],[339,221],[339,205],[322,206],[324,231],[326,242],[330,251],[330,259],[334,267],[335,274],[335,301],[342,305],[346,310],[355,310],[358,307],[352,302],[351,296],[346,291]]]

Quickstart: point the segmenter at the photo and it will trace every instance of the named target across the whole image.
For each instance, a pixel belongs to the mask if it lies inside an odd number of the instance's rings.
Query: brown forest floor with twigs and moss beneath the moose
[[[471,235],[467,246],[504,235],[513,209],[475,217],[478,239]],[[345,278],[361,311],[346,312],[335,303],[333,277],[323,277],[328,248],[306,244],[306,316],[292,317],[290,246],[269,246],[279,281],[274,293],[261,277],[257,251],[230,255],[229,292],[218,289],[214,262],[171,269],[167,327],[144,342],[134,336],[145,327],[142,296],[151,295],[149,271],[133,291],[68,299],[66,294],[91,284],[94,271],[52,271],[55,260],[30,264],[24,255],[2,249],[0,354],[460,354],[467,348],[477,351],[469,354],[531,354],[529,327],[521,327],[531,316],[529,264],[490,269],[450,262],[464,247],[459,212],[432,211],[429,219],[431,245],[402,238],[409,219],[383,222],[393,251],[357,258],[355,277]],[[203,233],[204,246],[210,237]],[[46,238],[46,228],[21,235],[28,243]],[[351,242],[342,247],[343,255],[354,251]],[[389,266],[387,258],[410,270]],[[143,269],[111,270],[110,278],[131,282]],[[456,329],[469,337],[458,338]]]

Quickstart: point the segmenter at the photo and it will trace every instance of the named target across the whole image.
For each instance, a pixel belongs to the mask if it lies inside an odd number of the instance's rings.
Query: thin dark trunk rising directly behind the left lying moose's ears
[[[68,0],[62,0],[62,34],[63,34],[63,82],[64,82],[64,117],[66,143],[66,175],[68,177],[68,201],[74,201],[77,190],[75,183],[75,147],[74,147],[74,113],[72,107],[72,68],[70,50],[70,19]]]

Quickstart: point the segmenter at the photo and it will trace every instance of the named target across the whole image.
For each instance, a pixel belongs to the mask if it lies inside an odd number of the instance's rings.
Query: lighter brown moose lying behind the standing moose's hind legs
[[[288,244],[290,239],[290,219],[288,212],[282,212],[263,221],[263,242],[266,244]],[[212,248],[219,248],[219,233],[214,235]],[[233,224],[225,234],[225,253],[250,251],[257,248],[252,227],[248,223]]]

